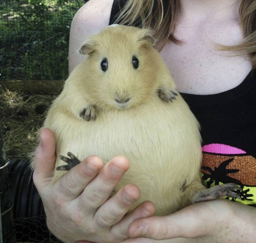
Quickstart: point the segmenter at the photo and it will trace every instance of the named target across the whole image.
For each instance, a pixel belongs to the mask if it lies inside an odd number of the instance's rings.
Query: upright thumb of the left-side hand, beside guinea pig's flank
[[[56,161],[56,140],[52,130],[43,128],[40,132],[40,142],[35,151],[34,184],[40,192],[52,179]]]

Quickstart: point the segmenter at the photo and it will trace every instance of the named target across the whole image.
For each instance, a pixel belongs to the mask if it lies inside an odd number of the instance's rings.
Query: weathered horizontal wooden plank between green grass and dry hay
[[[59,94],[64,85],[62,80],[44,81],[0,81],[0,87],[10,91],[23,91],[31,94]]]

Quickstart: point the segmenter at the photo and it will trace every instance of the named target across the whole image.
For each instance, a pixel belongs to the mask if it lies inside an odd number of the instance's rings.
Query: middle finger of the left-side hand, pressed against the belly
[[[84,189],[82,203],[90,211],[99,208],[111,195],[114,187],[129,169],[129,161],[123,156],[114,157]]]

